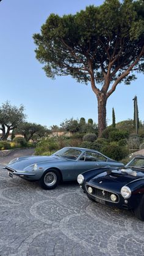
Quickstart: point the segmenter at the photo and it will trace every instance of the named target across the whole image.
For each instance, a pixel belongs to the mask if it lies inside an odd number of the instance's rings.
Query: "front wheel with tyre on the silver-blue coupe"
[[[56,169],[48,169],[40,179],[40,186],[46,190],[54,189],[59,185],[60,173]]]

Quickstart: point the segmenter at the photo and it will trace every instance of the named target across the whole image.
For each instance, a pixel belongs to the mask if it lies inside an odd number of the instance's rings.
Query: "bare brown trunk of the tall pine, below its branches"
[[[106,129],[106,103],[107,98],[102,93],[98,98],[98,137],[102,136],[102,132]]]

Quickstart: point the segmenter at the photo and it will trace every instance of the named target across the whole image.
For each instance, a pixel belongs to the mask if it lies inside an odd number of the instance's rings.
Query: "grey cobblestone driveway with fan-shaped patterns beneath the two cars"
[[[42,190],[0,165],[1,256],[143,256],[144,222],[87,199],[76,183]]]

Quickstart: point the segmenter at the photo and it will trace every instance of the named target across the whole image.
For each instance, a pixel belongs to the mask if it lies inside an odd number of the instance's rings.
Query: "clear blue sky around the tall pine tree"
[[[71,77],[46,77],[35,59],[34,33],[39,33],[49,14],[75,14],[90,4],[103,0],[2,0],[0,2],[0,105],[9,100],[23,104],[27,121],[51,126],[63,120],[84,117],[98,122],[97,101],[90,85],[77,83]],[[118,85],[107,102],[107,121],[133,118],[132,98],[137,95],[139,118],[144,121],[143,75],[131,85]]]

